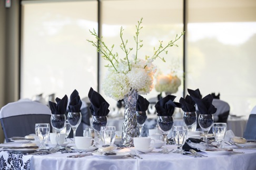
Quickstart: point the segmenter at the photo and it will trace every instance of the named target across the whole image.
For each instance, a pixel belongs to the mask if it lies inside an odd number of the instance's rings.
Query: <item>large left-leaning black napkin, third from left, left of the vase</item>
[[[88,93],[88,98],[91,102],[90,110],[93,116],[107,116],[109,114],[109,103],[99,93],[95,92],[92,87]]]

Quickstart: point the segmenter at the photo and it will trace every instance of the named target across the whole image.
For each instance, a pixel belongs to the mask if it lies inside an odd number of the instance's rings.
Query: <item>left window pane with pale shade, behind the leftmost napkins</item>
[[[97,52],[86,37],[97,28],[97,1],[28,2],[22,11],[21,97],[96,89]]]

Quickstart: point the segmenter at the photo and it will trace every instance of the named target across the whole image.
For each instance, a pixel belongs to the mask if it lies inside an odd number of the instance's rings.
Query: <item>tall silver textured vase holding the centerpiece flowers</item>
[[[125,146],[133,146],[133,137],[139,136],[136,120],[136,103],[138,96],[135,89],[132,89],[129,94],[124,96],[122,143]]]

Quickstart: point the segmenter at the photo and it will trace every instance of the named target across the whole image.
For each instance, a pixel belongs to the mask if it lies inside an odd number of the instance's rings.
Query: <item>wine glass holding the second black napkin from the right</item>
[[[188,127],[188,132],[194,132],[196,130],[196,112],[184,112],[183,121]]]

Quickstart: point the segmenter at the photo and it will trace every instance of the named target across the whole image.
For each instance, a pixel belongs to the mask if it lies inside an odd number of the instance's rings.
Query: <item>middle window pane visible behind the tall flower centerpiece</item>
[[[143,47],[139,50],[138,56],[144,59],[145,55],[152,56],[153,48],[159,46],[159,41],[163,44],[168,44],[169,41],[174,40],[176,34],[180,35],[183,30],[182,22],[182,1],[102,1],[102,36],[104,42],[110,47],[114,44],[114,52],[119,54],[120,58],[125,57],[125,53],[120,48],[120,27],[124,28],[123,38],[127,39],[127,47],[132,47],[133,51],[129,54],[135,54],[135,36],[137,21],[143,17],[142,26],[139,39],[142,39]],[[181,38],[178,43],[179,47],[168,48],[168,54],[161,54],[166,63],[157,58],[154,65],[157,66],[158,71],[164,74],[170,73],[171,69],[178,68],[178,74],[182,82],[182,62],[183,62],[183,39]],[[108,64],[101,59],[101,79],[104,81],[106,67]],[[155,84],[155,83],[154,83]],[[183,93],[183,84],[179,87],[179,91],[174,94],[179,100]],[[104,94],[101,91],[101,94]],[[159,92],[153,89],[149,94],[143,95],[147,99],[156,97]],[[106,97],[108,101],[115,101]]]

